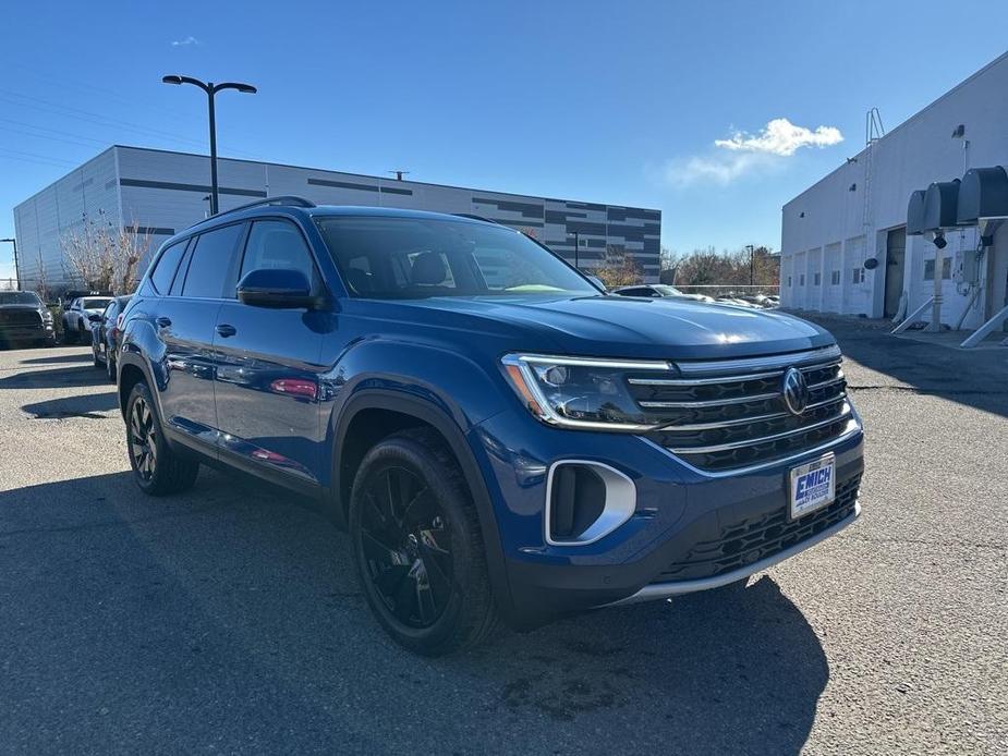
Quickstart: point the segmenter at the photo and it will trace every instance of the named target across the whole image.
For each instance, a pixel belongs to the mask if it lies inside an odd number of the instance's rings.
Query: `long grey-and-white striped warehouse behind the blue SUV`
[[[86,221],[135,225],[156,249],[207,216],[209,175],[205,155],[109,147],[14,208],[19,281],[31,288],[42,266],[49,286],[77,283],[62,247],[68,234]],[[218,159],[218,185],[222,211],[265,197],[297,195],[318,205],[476,215],[535,236],[583,270],[597,268],[607,249],[616,249],[639,264],[647,282],[658,280],[660,210],[231,158]]]

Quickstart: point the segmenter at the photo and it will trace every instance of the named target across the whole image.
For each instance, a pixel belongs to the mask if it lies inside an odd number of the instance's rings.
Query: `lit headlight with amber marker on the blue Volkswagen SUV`
[[[505,373],[519,398],[548,425],[586,430],[645,431],[657,427],[627,390],[626,376],[668,373],[658,361],[508,354]]]

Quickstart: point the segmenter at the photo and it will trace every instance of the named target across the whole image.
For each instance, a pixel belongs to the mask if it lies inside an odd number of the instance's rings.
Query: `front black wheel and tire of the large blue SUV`
[[[437,434],[400,431],[367,452],[350,497],[350,537],[367,603],[404,648],[441,656],[494,631],[476,507]]]

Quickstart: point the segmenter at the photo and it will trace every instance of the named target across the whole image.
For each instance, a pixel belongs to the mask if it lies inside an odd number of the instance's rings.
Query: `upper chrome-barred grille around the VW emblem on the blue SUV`
[[[632,376],[629,389],[659,425],[646,436],[701,470],[730,472],[772,463],[828,443],[851,429],[853,415],[836,346],[750,359],[677,363],[679,377]],[[799,415],[782,394],[785,373],[800,369],[809,387]]]

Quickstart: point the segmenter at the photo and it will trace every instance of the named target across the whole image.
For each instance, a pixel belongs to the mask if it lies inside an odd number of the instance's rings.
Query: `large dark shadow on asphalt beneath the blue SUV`
[[[126,473],[0,492],[2,742],[788,754],[809,735],[829,669],[767,577],[425,659],[379,630],[347,538],[286,499],[206,470],[163,499]]]

